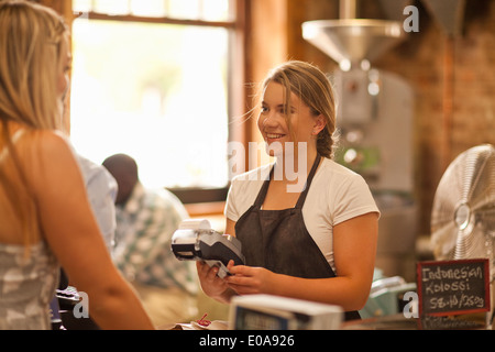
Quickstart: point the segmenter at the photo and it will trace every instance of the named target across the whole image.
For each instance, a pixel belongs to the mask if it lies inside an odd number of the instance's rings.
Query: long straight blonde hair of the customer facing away
[[[57,80],[68,30],[50,8],[0,1],[0,119],[62,128]]]

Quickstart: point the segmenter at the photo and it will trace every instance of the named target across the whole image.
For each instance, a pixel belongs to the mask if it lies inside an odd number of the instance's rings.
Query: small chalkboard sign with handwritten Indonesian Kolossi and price
[[[421,316],[490,311],[488,260],[420,262],[417,285]]]

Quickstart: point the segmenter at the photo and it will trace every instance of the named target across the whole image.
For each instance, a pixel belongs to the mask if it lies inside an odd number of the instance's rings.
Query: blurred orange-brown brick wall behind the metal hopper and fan
[[[296,2],[290,56],[332,72],[337,64],[297,32],[304,21],[338,19],[339,1]],[[386,19],[377,1],[359,3],[360,18]],[[415,197],[419,234],[428,235],[435,191],[448,165],[474,145],[495,144],[495,0],[468,0],[457,35],[446,33],[421,1],[410,3],[418,9],[419,31],[372,65],[402,76],[415,90]]]

